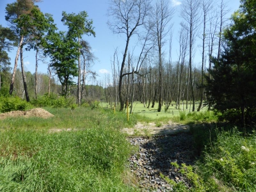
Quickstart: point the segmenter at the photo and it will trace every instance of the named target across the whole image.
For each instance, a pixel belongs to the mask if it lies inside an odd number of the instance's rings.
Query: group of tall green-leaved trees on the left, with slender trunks
[[[35,56],[35,99],[38,95],[38,62],[42,57],[50,58],[48,63],[48,94],[51,89],[52,74],[56,74],[61,84],[61,95],[68,97],[70,86],[77,84],[77,103],[81,102],[81,95],[84,95],[85,74],[91,72],[89,68],[94,56],[90,44],[82,38],[84,34],[95,36],[92,20],[88,19],[87,13],[62,13],[61,21],[68,27],[67,31],[58,31],[52,15],[42,13],[35,5],[37,0],[17,0],[6,5],[6,21],[10,28],[1,26],[1,74],[10,71],[10,58],[6,51],[13,46],[18,47],[15,56],[15,64],[12,69],[9,94],[13,94],[15,77],[17,73],[18,60],[24,94],[29,102],[28,80],[24,71],[23,52],[36,51]],[[82,58],[82,59],[80,59]],[[83,72],[82,72],[83,70]],[[82,76],[81,76],[82,74]],[[77,83],[74,83],[74,78]],[[81,84],[82,82],[82,84]],[[3,80],[1,81],[3,84]],[[15,88],[15,91],[17,89]]]

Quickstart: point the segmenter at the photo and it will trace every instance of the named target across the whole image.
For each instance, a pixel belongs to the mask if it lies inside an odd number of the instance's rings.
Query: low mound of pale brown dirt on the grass
[[[45,111],[45,109],[35,108],[35,109],[30,109],[28,111],[10,111],[8,113],[1,113],[0,119],[4,119],[8,117],[16,117],[16,116],[24,116],[24,117],[38,116],[41,118],[49,118],[54,115],[52,115],[48,111]]]

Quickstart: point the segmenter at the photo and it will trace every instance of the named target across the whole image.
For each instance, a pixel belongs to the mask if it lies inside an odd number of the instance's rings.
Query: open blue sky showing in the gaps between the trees
[[[8,26],[8,23],[4,19],[6,4],[13,2],[14,0],[0,0],[0,24],[2,26]],[[239,8],[239,0],[230,0],[228,2],[230,8],[229,15],[231,15],[231,13]],[[177,49],[179,49],[177,32],[179,31],[179,23],[181,21],[179,8],[182,4],[182,0],[170,0],[170,4],[171,6],[175,6],[176,9],[172,20],[172,22],[174,22],[172,60],[175,61],[177,60]],[[60,30],[65,30],[65,27],[61,22],[61,13],[63,11],[67,13],[86,11],[88,13],[88,18],[93,20],[93,26],[96,33],[95,38],[93,36],[84,36],[84,39],[90,43],[93,53],[98,58],[98,60],[95,61],[92,70],[97,72],[102,78],[104,78],[104,74],[106,73],[111,74],[111,58],[113,58],[116,47],[118,47],[119,53],[122,54],[125,46],[125,38],[124,36],[113,34],[106,24],[108,21],[108,0],[44,0],[41,3],[37,3],[37,5],[43,13],[51,13],[53,15],[54,22]],[[131,44],[130,47],[132,46],[133,45]],[[12,59],[12,67],[14,65],[16,51],[17,47],[14,47],[13,51],[9,53],[9,56]],[[168,52],[168,50],[166,50],[166,52]],[[200,58],[200,54],[196,57]],[[121,56],[119,58],[121,58]],[[196,61],[194,62],[196,63]],[[26,64],[26,70],[29,70],[32,73],[35,72],[35,52],[25,52],[24,63]],[[40,63],[38,71],[47,73],[47,65]]]

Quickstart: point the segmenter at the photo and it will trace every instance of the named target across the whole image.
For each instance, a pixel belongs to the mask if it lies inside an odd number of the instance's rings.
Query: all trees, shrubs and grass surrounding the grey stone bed
[[[170,119],[189,124],[200,155],[193,166],[172,163],[190,184],[165,178],[174,191],[255,191],[253,1],[241,0],[230,23],[223,0],[216,7],[213,1],[182,1],[179,61],[173,62],[163,50],[166,42],[172,49],[173,10],[167,1],[111,0],[109,28],[127,39],[122,61],[117,49],[113,54],[113,76],[105,86],[85,81],[97,75],[90,71],[95,56],[83,36],[95,36],[87,13],[63,12],[68,29],[58,31],[36,2],[6,5],[10,28],[0,26],[0,112],[40,107],[54,116],[0,120],[0,191],[136,191],[125,166],[136,149],[120,129],[157,117],[159,127]],[[138,34],[140,54],[134,56],[129,43]],[[193,63],[198,38],[199,68]],[[10,68],[13,46],[17,54]],[[48,74],[37,67],[35,74],[24,71],[25,50],[36,52],[36,66],[39,55],[50,58]],[[132,114],[129,121],[124,109]]]

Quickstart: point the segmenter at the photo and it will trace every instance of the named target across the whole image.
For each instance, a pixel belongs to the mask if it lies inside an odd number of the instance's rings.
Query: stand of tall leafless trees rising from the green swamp
[[[115,67],[113,72],[113,82],[114,84],[118,82],[120,111],[124,109],[125,100],[134,99],[132,96],[127,98],[128,86],[123,85],[124,79],[133,82],[134,78],[141,79],[146,76],[147,78],[154,76],[156,81],[156,86],[152,86],[154,83],[151,80],[150,83],[145,84],[147,90],[152,92],[151,95],[154,95],[147,98],[157,101],[157,111],[161,111],[162,106],[168,108],[168,103],[172,101],[177,102],[179,108],[182,100],[186,100],[187,103],[191,100],[192,111],[196,110],[195,101],[199,100],[197,111],[200,111],[203,101],[206,100],[205,68],[206,66],[211,68],[211,58],[214,54],[220,58],[222,31],[227,24],[227,13],[227,3],[223,0],[218,3],[209,0],[182,1],[179,13],[182,19],[178,37],[179,47],[175,47],[179,50],[179,61],[172,61],[173,16],[177,13],[169,1],[111,1],[108,10],[111,18],[108,22],[109,28],[113,33],[125,36],[125,48],[124,51],[122,50],[124,54],[121,54],[119,62],[116,61],[118,55],[115,51],[113,61],[113,66],[117,65],[117,69]],[[133,39],[140,42],[138,50],[141,51],[136,56],[129,48],[129,43]],[[197,46],[198,41],[200,48]],[[166,50],[166,47],[169,47],[169,50]],[[198,66],[193,63],[198,49],[202,51],[200,76]],[[157,73],[152,74],[153,67]]]

